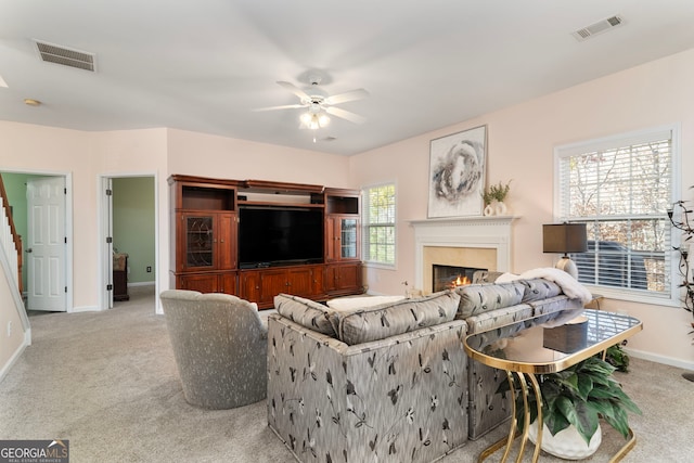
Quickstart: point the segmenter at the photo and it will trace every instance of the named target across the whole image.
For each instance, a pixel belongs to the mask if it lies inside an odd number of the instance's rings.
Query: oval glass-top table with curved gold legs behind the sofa
[[[529,388],[532,388],[537,400],[538,436],[535,446],[532,462],[537,462],[542,442],[542,410],[541,394],[537,374],[554,373],[567,369],[587,358],[604,351],[611,346],[627,339],[643,329],[641,321],[621,313],[606,312],[603,310],[586,309],[576,321],[552,329],[545,333],[542,326],[531,325],[531,320],[519,321],[486,332],[471,334],[465,337],[463,344],[465,352],[473,359],[504,370],[512,386],[512,394],[516,394],[513,385],[513,374],[519,384],[518,394],[528,403]],[[545,346],[551,346],[545,347]],[[501,449],[505,442],[505,451],[502,462],[509,458],[513,440],[515,439],[516,410],[515,400],[512,400],[513,413],[507,438],[494,442],[480,453],[478,461]],[[518,450],[518,462],[523,459],[530,413],[524,410],[524,432]],[[630,440],[613,458],[616,462],[635,445],[635,437],[631,434]]]

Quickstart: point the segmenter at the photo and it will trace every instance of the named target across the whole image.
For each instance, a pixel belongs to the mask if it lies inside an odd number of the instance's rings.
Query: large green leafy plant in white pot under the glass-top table
[[[597,357],[590,357],[568,369],[541,375],[542,419],[552,435],[574,425],[586,442],[597,429],[600,417],[627,439],[627,412],[641,414],[641,410],[613,377],[615,368]],[[509,383],[500,391],[509,390]],[[530,389],[528,407],[530,423],[537,420],[537,398]],[[516,397],[518,427],[523,430],[523,399]]]

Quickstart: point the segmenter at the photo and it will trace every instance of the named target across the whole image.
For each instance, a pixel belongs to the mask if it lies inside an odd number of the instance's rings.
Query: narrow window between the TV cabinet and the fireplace
[[[364,191],[364,260],[395,266],[395,184]]]

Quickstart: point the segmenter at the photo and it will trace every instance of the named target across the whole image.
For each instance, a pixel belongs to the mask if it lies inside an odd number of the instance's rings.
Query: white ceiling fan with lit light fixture
[[[331,97],[319,87],[320,82],[319,78],[311,79],[311,87],[304,91],[294,83],[278,81],[278,85],[297,95],[299,98],[299,103],[261,107],[255,111],[293,110],[303,107],[307,111],[306,113],[303,113],[299,118],[301,121],[299,128],[313,130],[325,127],[330,123],[330,117],[327,117],[329,114],[355,124],[363,124],[367,120],[358,114],[335,106],[336,104],[361,100],[369,97],[369,92],[367,90],[357,89]]]

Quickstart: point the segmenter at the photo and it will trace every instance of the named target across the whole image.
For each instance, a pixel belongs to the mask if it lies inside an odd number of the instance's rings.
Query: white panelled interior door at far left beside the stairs
[[[66,311],[65,178],[27,182],[27,305]]]

